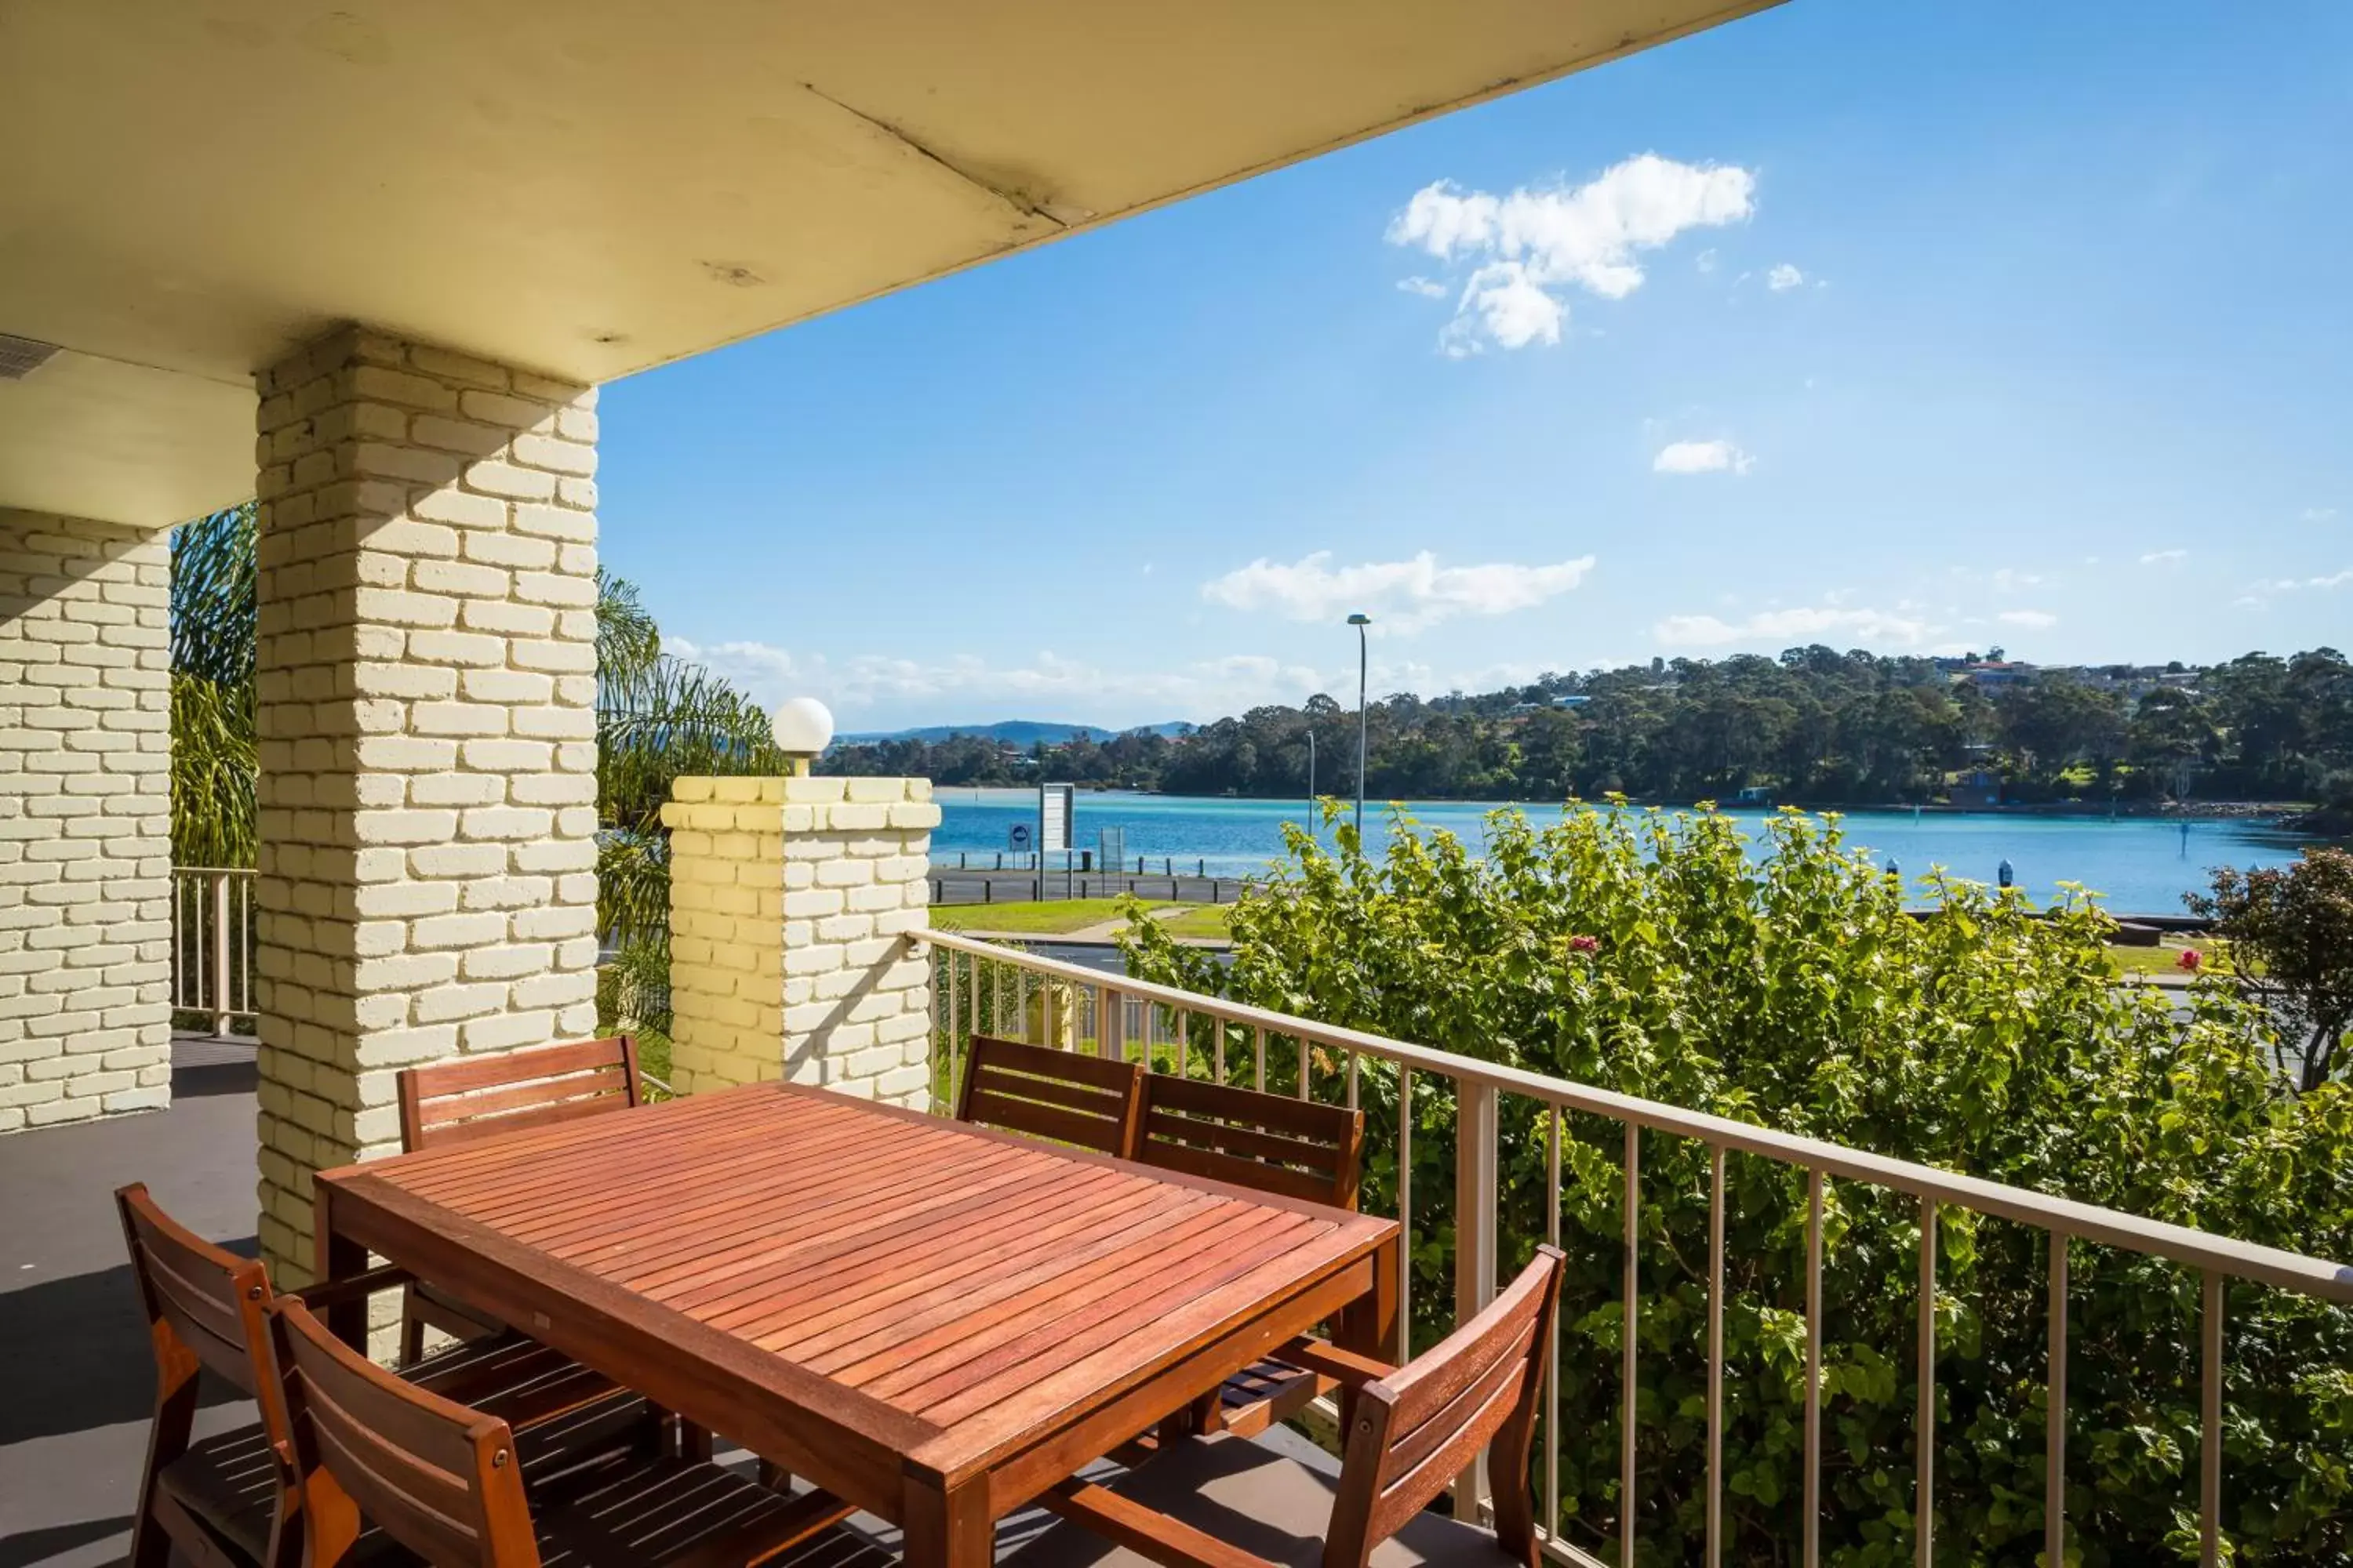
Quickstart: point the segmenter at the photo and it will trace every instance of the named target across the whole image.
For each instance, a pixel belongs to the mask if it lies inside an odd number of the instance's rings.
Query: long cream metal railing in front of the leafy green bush
[[[1805,1542],[1802,1563],[1817,1568],[1821,1552],[1821,1262],[1824,1262],[1824,1201],[1833,1178],[1901,1192],[1920,1204],[1920,1309],[1918,1309],[1918,1387],[1915,1387],[1915,1453],[1913,1476],[1915,1561],[1927,1568],[1932,1559],[1932,1497],[1934,1497],[1934,1425],[1937,1425],[1937,1213],[1939,1206],[1967,1208],[2000,1220],[2028,1225],[2049,1237],[2049,1371],[2045,1394],[2045,1561],[2064,1561],[2066,1528],[2066,1338],[2068,1338],[2068,1251],[2073,1244],[2113,1246],[2129,1253],[2165,1258],[2198,1269],[2202,1276],[2200,1319],[2200,1455],[2198,1455],[2198,1519],[2200,1561],[2212,1568],[2221,1561],[2221,1380],[2224,1380],[2224,1281],[2247,1279],[2282,1291],[2297,1291],[2327,1302],[2353,1305],[2353,1265],[2327,1262],[2299,1253],[2233,1241],[2184,1225],[2146,1220],[2141,1215],[2073,1199],[1991,1182],[1955,1171],[1889,1159],[1817,1138],[1798,1138],[1772,1128],[1729,1121],[1704,1112],[1661,1105],[1574,1084],[1569,1079],[1544,1077],[1520,1067],[1482,1063],[1449,1051],[1433,1051],[1362,1030],[1315,1023],[1292,1013],[1275,1013],[1221,997],[1207,997],[1169,985],[1153,985],[1125,976],[1108,976],[1078,964],[1045,959],[1019,947],[986,943],[951,931],[911,933],[913,943],[927,945],[934,954],[932,985],[932,1039],[944,1046],[934,1058],[934,1107],[955,1103],[962,1081],[965,1041],[972,1034],[1007,1034],[1033,1044],[1075,1048],[1092,1041],[1101,1056],[1136,1060],[1148,1072],[1169,1070],[1162,1063],[1162,1046],[1172,1046],[1172,1067],[1188,1072],[1200,1032],[1198,1020],[1207,1020],[1212,1034],[1202,1067],[1217,1081],[1249,1081],[1266,1091],[1266,1041],[1289,1039],[1297,1046],[1294,1084],[1282,1093],[1313,1098],[1315,1063],[1311,1048],[1322,1048],[1344,1065],[1329,1070],[1337,1081],[1322,1091],[1358,1105],[1360,1060],[1374,1058],[1398,1070],[1398,1222],[1407,1239],[1414,1229],[1412,1197],[1412,1133],[1417,1072],[1438,1074],[1457,1088],[1457,1251],[1454,1251],[1454,1307],[1457,1316],[1485,1307],[1497,1291],[1497,1197],[1501,1190],[1497,1166],[1499,1095],[1525,1095],[1548,1107],[1546,1138],[1546,1239],[1560,1244],[1560,1133],[1567,1112],[1584,1112],[1617,1121],[1626,1131],[1624,1152],[1624,1312],[1638,1312],[1638,1206],[1642,1171],[1642,1135],[1666,1133],[1692,1138],[1708,1147],[1708,1328],[1706,1328],[1706,1561],[1722,1563],[1722,1441],[1725,1441],[1725,1154],[1744,1152],[1779,1161],[1807,1173],[1805,1218],[1805,1439],[1802,1439],[1802,1512]],[[1228,1046],[1249,1046],[1247,1070],[1228,1063]],[[1233,1072],[1228,1072],[1228,1065]],[[1412,1246],[1398,1251],[1398,1309],[1409,1335],[1412,1326]],[[1619,1415],[1619,1497],[1635,1495],[1635,1389],[1638,1389],[1638,1335],[1635,1324],[1621,1331],[1621,1385],[1624,1406]],[[1405,1342],[1400,1354],[1412,1354]],[[1560,1354],[1555,1345],[1551,1387],[1546,1389],[1544,1420],[1544,1530],[1553,1544],[1572,1556],[1584,1556],[1553,1535],[1560,1521],[1558,1455],[1560,1455]],[[1457,1486],[1457,1509],[1464,1502],[1482,1500],[1482,1481],[1471,1474]],[[1591,1561],[1591,1559],[1586,1559]],[[1619,1561],[1633,1568],[1635,1561],[1635,1509],[1619,1507]]]

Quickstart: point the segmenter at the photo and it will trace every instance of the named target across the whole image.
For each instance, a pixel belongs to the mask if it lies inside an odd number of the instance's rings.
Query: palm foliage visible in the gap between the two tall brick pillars
[[[172,863],[254,863],[254,505],[172,534]]]

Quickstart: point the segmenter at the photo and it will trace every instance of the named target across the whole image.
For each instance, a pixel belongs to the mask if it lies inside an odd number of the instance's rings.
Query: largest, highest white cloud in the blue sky
[[[1440,339],[1459,357],[1489,339],[1501,348],[1558,343],[1567,320],[1558,289],[1626,299],[1642,287],[1640,252],[1687,228],[1739,223],[1751,212],[1748,169],[1642,153],[1584,186],[1492,195],[1435,181],[1414,193],[1386,237],[1473,268],[1457,320]]]

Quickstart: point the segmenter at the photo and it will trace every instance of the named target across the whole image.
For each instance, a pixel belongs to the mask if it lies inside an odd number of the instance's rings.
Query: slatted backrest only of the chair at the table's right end
[[[1325,1568],[1362,1568],[1372,1547],[1482,1448],[1494,1455],[1497,1528],[1522,1537],[1506,1542],[1513,1556],[1534,1552],[1525,1474],[1560,1312],[1560,1265],[1558,1248],[1539,1246],[1485,1312],[1355,1394]]]

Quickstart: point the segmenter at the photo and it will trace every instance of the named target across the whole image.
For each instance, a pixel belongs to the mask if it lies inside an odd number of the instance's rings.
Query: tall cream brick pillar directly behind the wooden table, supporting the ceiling
[[[261,390],[261,1251],[393,1072],[595,1030],[595,393],[344,329]]]

